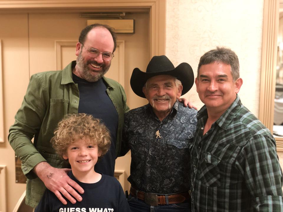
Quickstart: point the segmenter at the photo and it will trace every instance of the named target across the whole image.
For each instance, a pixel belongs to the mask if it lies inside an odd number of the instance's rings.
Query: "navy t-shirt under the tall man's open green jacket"
[[[78,84],[80,101],[78,113],[87,113],[100,119],[111,134],[111,147],[99,160],[94,170],[113,176],[116,159],[116,138],[118,129],[118,113],[111,99],[107,95],[106,86],[102,79],[97,82],[88,82],[73,74],[73,81]]]

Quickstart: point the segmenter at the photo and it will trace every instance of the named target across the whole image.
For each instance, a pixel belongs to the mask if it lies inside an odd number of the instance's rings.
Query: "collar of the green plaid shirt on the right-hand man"
[[[228,109],[216,120],[216,123],[219,127],[226,130],[230,122],[232,121],[233,117],[235,116],[236,112],[238,111],[239,107],[241,107],[241,100],[238,94],[236,95],[236,99],[234,102],[228,107]],[[207,117],[207,108],[204,105],[197,114],[197,119],[200,120],[203,117]]]

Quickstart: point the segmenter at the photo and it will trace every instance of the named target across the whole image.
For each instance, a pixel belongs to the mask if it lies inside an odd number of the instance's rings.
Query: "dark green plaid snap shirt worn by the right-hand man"
[[[192,211],[283,211],[282,170],[270,131],[236,97],[203,135],[198,112],[191,149]]]

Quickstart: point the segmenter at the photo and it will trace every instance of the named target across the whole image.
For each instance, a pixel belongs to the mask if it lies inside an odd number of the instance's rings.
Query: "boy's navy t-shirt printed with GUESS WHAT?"
[[[67,200],[63,205],[55,194],[46,189],[34,212],[131,212],[123,188],[119,181],[111,176],[101,174],[97,183],[82,183],[70,171],[68,176],[83,189],[83,200],[75,204]]]

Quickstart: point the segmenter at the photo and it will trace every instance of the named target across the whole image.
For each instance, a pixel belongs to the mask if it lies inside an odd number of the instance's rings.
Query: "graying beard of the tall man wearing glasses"
[[[103,75],[106,74],[106,72],[109,70],[110,65],[111,63],[108,66],[103,66],[102,72],[97,72],[98,74],[94,76],[91,74],[91,72],[93,71],[88,68],[88,62],[84,61],[82,51],[80,51],[80,54],[77,57],[77,66],[79,69],[78,71],[80,73],[80,77],[88,82],[96,82],[100,80]]]

